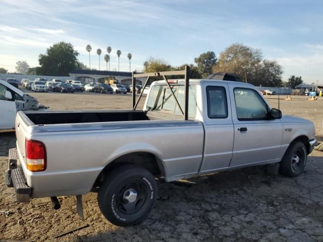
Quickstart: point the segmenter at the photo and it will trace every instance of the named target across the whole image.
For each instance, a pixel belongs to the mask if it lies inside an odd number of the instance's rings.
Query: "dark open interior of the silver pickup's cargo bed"
[[[35,125],[149,120],[144,111],[37,111],[25,114]]]

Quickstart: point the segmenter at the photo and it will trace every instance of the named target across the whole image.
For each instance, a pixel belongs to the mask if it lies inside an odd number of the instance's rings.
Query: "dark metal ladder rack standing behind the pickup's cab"
[[[150,77],[160,77],[162,76],[164,78],[164,80],[166,81],[167,86],[169,87],[169,89],[171,90],[172,96],[174,97],[177,105],[179,106],[182,115],[184,117],[184,120],[188,120],[188,90],[189,90],[189,73],[190,73],[190,67],[189,66],[185,66],[185,70],[183,71],[170,71],[170,72],[151,72],[151,73],[140,73],[140,74],[136,74],[136,72],[132,72],[132,110],[136,110],[136,107],[138,106],[138,103],[140,101],[140,98],[143,94],[143,90],[145,89],[145,87],[148,84],[149,78]],[[184,80],[185,80],[185,84],[184,84],[184,88],[185,88],[185,97],[184,97],[184,111],[182,109],[182,107],[180,106],[172,88],[171,85],[167,79],[166,76],[177,76],[177,75],[184,75]],[[142,92],[139,95],[139,98],[136,102],[136,78],[138,77],[147,77],[145,84],[142,88]]]

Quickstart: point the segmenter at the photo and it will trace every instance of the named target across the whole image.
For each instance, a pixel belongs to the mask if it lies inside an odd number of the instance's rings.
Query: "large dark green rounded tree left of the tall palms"
[[[46,76],[68,76],[78,67],[78,55],[71,43],[55,43],[47,48],[46,54],[39,54],[39,72]]]

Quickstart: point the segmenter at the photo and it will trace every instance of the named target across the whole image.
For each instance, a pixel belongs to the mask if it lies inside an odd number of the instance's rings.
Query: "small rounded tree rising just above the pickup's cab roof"
[[[203,78],[212,73],[212,68],[217,64],[217,61],[217,55],[213,51],[201,53],[200,56],[194,58],[194,62],[197,64],[197,69]]]

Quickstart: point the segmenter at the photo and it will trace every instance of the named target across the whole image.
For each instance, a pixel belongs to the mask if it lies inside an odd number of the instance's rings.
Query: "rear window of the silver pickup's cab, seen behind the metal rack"
[[[184,86],[171,86],[182,110],[184,111]],[[196,86],[189,86],[188,116],[194,118],[196,115]],[[177,105],[171,90],[167,85],[155,85],[151,87],[146,109],[149,111],[164,112],[168,114],[182,116],[182,112]]]

